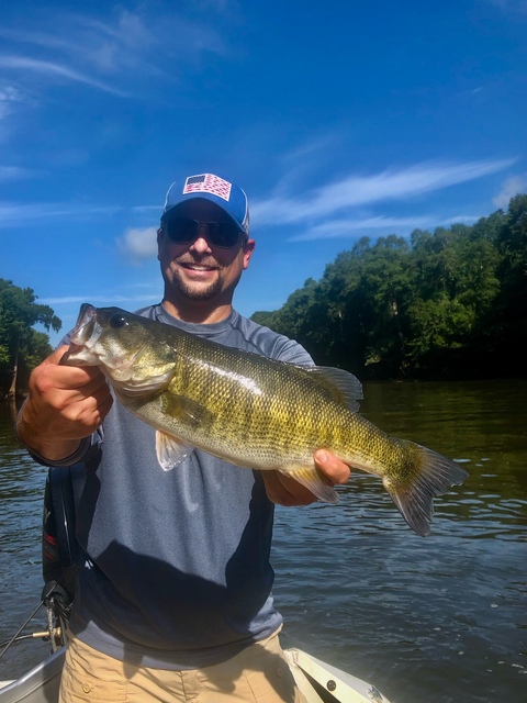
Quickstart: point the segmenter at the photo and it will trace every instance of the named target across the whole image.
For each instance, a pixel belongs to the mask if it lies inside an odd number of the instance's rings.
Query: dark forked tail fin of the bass
[[[422,537],[430,532],[434,499],[459,486],[468,473],[459,465],[431,449],[413,442],[397,439],[407,456],[407,464],[399,477],[385,476],[383,484],[402,516]]]

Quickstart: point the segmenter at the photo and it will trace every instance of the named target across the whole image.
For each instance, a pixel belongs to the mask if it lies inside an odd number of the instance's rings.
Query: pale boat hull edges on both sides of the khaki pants
[[[306,703],[390,703],[370,683],[312,657],[285,649],[298,688]],[[0,703],[57,703],[65,647],[14,681],[0,681]]]

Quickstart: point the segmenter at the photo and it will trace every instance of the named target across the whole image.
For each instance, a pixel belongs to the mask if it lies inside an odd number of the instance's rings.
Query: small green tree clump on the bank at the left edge
[[[22,289],[0,278],[0,398],[12,392],[12,380],[19,368],[26,379],[52,352],[47,335],[33,330],[33,325],[42,324],[55,332],[61,327],[53,310],[35,301],[31,288]]]

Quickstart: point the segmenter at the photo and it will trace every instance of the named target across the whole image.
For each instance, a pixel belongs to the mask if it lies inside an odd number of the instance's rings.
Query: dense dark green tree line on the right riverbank
[[[527,196],[410,238],[360,238],[253,320],[361,379],[525,376]]]

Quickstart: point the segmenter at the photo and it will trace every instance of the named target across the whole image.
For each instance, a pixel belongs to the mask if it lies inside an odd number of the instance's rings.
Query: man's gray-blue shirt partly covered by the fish
[[[233,311],[217,324],[139,314],[283,361],[305,349]],[[103,429],[82,443],[87,482],[77,536],[87,559],[70,620],[86,644],[165,669],[217,663],[282,622],[271,595],[273,505],[258,471],[194,450],[160,469],[155,429],[114,402]]]

